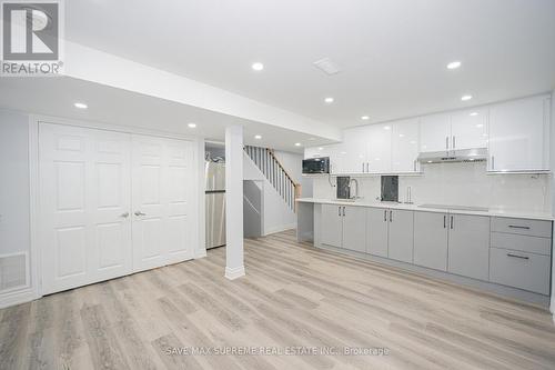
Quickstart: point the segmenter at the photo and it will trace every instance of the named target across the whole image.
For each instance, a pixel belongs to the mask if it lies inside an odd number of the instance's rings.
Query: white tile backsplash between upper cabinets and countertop
[[[551,174],[487,174],[486,163],[423,164],[422,176],[398,177],[398,200],[406,201],[411,187],[415,204],[477,206],[507,211],[551,212]],[[365,201],[380,198],[380,176],[356,177]],[[335,183],[335,179],[331,179]],[[314,178],[314,198],[335,198],[326,177]]]

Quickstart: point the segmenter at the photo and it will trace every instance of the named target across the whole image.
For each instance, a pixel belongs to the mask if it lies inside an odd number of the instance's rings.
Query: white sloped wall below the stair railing
[[[244,153],[243,161],[243,179],[262,183],[262,234],[266,236],[295,227],[296,214],[246,153]]]

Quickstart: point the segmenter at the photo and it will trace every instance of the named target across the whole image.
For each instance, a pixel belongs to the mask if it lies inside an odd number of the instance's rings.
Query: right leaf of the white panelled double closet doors
[[[133,136],[133,270],[193,257],[194,152],[189,141]]]

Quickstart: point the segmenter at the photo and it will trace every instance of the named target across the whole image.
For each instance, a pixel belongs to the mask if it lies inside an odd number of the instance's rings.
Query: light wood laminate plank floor
[[[0,369],[555,369],[543,309],[294,240],[245,240],[235,281],[215,249],[0,310]],[[170,353],[191,346],[389,354]]]

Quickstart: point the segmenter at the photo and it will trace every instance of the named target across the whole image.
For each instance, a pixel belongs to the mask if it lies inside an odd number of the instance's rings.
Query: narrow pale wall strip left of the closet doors
[[[0,258],[29,256],[29,118],[0,111]],[[0,261],[0,280],[27,272],[24,263],[14,267]]]

